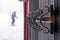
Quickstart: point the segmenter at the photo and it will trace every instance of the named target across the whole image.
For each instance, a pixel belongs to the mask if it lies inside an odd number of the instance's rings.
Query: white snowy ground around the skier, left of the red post
[[[0,0],[0,40],[24,40],[24,8],[18,0]],[[16,11],[15,26],[11,14]]]

